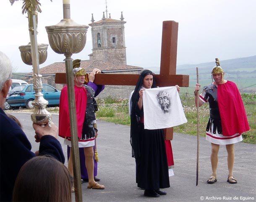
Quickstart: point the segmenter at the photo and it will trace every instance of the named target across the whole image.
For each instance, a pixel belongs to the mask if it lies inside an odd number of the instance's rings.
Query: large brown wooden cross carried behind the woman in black
[[[176,75],[178,43],[178,23],[163,21],[160,73],[154,75],[159,87],[179,85],[188,87],[189,75]],[[136,85],[136,74],[96,74],[94,83],[98,85]],[[56,73],[55,83],[66,83],[65,73]],[[172,140],[173,128],[165,129],[165,137]]]

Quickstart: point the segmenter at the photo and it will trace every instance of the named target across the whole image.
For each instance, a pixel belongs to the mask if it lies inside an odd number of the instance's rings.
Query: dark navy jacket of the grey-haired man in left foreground
[[[60,142],[51,135],[40,140],[39,155],[46,154],[65,162]],[[0,109],[0,201],[11,201],[21,166],[34,156],[23,130]]]

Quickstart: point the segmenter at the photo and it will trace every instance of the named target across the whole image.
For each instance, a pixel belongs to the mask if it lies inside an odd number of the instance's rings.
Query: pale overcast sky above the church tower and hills
[[[38,43],[49,44],[45,26],[63,19],[62,0],[40,0]],[[71,18],[79,24],[102,19],[105,0],[70,0]],[[1,0],[0,50],[10,57],[16,72],[30,72],[18,49],[29,43],[27,14],[22,15],[22,1],[13,6]],[[198,64],[256,55],[256,0],[107,0],[111,18],[125,23],[125,45],[128,65],[158,67],[160,65],[162,22],[176,21],[178,27],[177,65]],[[86,46],[73,59],[89,60],[92,51],[91,28]],[[44,67],[62,62],[65,56],[48,47]]]

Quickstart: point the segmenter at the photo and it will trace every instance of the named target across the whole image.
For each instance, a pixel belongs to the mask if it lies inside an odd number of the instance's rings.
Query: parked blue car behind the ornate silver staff
[[[60,92],[51,85],[43,84],[41,93],[44,95],[44,99],[48,101],[47,106],[59,106]],[[32,109],[35,94],[33,84],[17,85],[9,92],[6,102],[12,109],[18,109],[20,106]]]

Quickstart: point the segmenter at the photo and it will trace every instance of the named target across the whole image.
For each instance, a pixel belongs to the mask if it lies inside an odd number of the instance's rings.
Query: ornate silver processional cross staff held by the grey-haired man
[[[10,0],[11,5],[13,5],[14,0]],[[52,114],[46,110],[48,101],[46,101],[41,93],[42,85],[42,75],[39,74],[39,57],[38,57],[38,45],[37,45],[37,11],[41,12],[39,7],[41,5],[39,0],[23,0],[22,13],[28,13],[29,19],[29,36],[30,36],[30,46],[31,46],[31,61],[33,65],[33,79],[34,79],[34,90],[36,91],[35,99],[32,102],[34,106],[34,112],[31,114],[31,120],[37,124],[43,124],[49,122],[51,127]],[[21,48],[22,49],[22,48]],[[23,55],[21,54],[21,57]],[[22,58],[22,60],[26,60]],[[46,58],[45,58],[46,60]],[[45,61],[44,60],[44,61]],[[42,61],[41,61],[42,62]],[[26,63],[26,62],[25,62]]]

